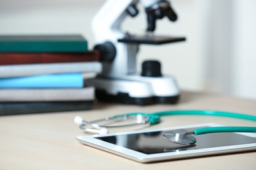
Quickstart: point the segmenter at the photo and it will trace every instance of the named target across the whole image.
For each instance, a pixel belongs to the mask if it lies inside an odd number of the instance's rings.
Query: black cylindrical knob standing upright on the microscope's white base
[[[148,60],[142,63],[141,76],[162,76],[161,63],[156,60]]]

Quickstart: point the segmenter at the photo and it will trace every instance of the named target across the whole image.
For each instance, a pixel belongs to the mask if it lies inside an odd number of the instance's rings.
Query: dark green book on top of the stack
[[[0,35],[0,52],[87,52],[81,35]]]

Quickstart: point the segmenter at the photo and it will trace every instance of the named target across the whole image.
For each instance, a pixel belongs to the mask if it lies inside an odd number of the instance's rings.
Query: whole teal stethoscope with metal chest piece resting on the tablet
[[[109,128],[115,127],[127,127],[127,126],[137,126],[137,125],[154,125],[160,122],[161,116],[172,116],[172,115],[209,115],[209,116],[224,116],[230,118],[240,118],[244,120],[256,121],[256,116],[251,116],[248,114],[239,114],[233,112],[222,112],[215,110],[168,110],[163,112],[154,112],[152,114],[135,112],[128,114],[119,114],[112,117],[106,117],[91,122],[83,120],[81,116],[75,116],[74,122],[79,124],[79,127],[83,131],[90,133],[106,134]],[[111,124],[112,122],[122,122],[127,120],[136,120],[135,123],[123,124],[118,126],[100,125],[99,122],[107,122]],[[91,126],[85,127],[85,126]],[[220,132],[243,132],[251,133],[256,132],[256,127],[239,127],[239,126],[223,126],[223,127],[206,127],[194,129],[194,131],[186,131],[186,129],[177,129],[174,131],[165,131],[163,137],[172,143],[190,145],[196,143],[196,138],[192,135],[202,135],[206,133],[220,133]]]

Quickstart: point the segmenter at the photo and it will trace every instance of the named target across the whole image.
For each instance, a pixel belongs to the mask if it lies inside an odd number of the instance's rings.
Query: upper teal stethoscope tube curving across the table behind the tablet
[[[245,120],[256,121],[256,116],[248,114],[240,114],[233,112],[221,112],[214,110],[169,110],[163,112],[154,112],[158,116],[171,116],[171,115],[208,115],[208,116],[224,116],[229,118],[240,118]]]

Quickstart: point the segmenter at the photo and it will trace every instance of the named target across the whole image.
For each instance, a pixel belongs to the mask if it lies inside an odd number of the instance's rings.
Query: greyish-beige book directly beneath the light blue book
[[[53,89],[0,89],[0,102],[34,101],[90,101],[95,99],[95,88],[53,88]]]

